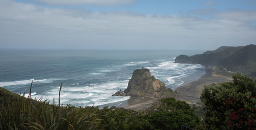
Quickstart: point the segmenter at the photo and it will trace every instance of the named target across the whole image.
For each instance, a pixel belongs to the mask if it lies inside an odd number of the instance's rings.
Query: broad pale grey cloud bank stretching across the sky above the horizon
[[[0,0],[0,48],[212,49],[255,43],[248,21],[216,15],[90,13]]]

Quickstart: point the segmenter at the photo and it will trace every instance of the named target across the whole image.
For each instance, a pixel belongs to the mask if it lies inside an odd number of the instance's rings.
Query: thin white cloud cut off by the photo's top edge
[[[41,3],[46,5],[100,5],[100,6],[114,6],[125,5],[135,2],[135,0],[27,0],[30,2]]]

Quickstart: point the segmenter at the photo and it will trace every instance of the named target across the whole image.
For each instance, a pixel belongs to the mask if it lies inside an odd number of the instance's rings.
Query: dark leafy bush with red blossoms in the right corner
[[[256,86],[249,77],[237,74],[232,82],[206,87],[201,100],[209,129],[254,129]]]

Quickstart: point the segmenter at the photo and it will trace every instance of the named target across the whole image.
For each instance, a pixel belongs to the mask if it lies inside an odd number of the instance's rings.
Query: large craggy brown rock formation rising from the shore
[[[129,81],[127,89],[118,91],[112,96],[143,96],[153,98],[172,97],[173,90],[151,75],[146,68],[136,69]]]

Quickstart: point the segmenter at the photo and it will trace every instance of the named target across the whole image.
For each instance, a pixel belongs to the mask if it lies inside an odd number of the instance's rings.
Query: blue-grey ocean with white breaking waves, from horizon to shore
[[[99,106],[127,100],[112,96],[126,89],[132,73],[138,68],[150,69],[166,87],[177,87],[205,74],[199,64],[177,64],[180,54],[195,55],[202,51],[99,51],[99,50],[1,50],[0,86],[28,96],[33,81],[32,98],[55,97],[59,86],[62,104]]]

